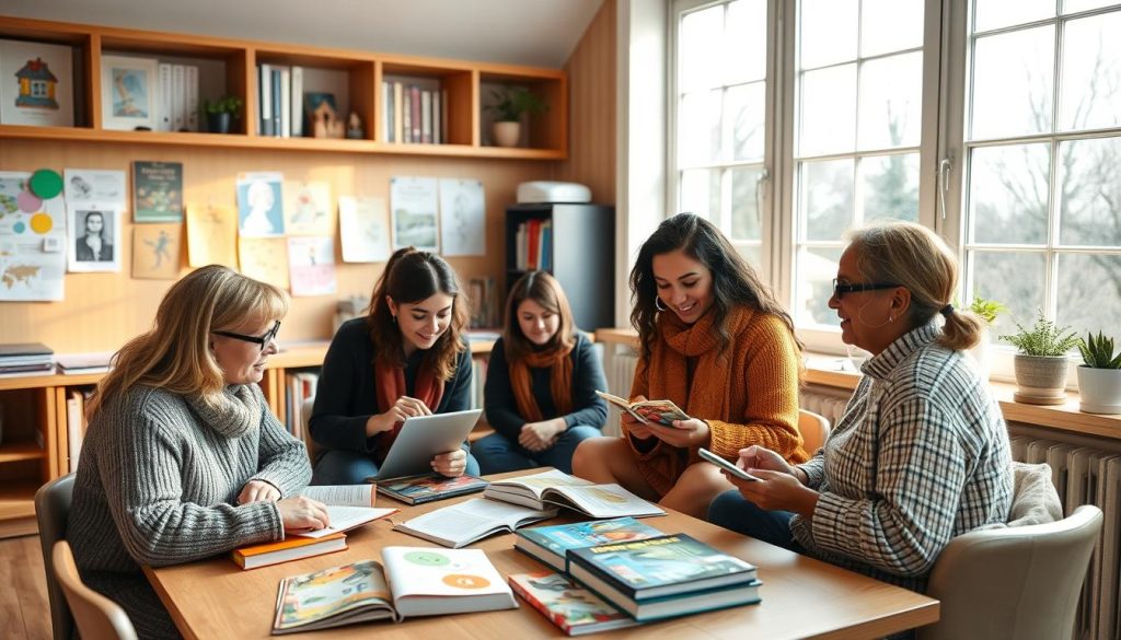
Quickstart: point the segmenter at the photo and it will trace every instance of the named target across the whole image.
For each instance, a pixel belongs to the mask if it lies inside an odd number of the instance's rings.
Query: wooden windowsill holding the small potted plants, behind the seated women
[[[599,342],[638,345],[638,335],[628,328],[601,328],[595,332]],[[805,381],[835,389],[852,391],[860,382],[860,373],[847,369],[846,361],[835,355],[807,353]],[[1010,423],[1025,423],[1067,433],[1085,434],[1113,439],[1121,439],[1121,416],[1103,416],[1086,414],[1078,410],[1078,395],[1067,392],[1065,405],[1043,407],[1026,405],[1012,400],[1016,384],[991,380],[989,382],[1004,419]]]

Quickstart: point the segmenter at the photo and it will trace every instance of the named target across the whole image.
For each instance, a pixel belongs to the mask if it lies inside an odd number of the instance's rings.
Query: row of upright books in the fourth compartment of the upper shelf
[[[382,83],[382,139],[409,145],[447,142],[447,92],[438,81]]]

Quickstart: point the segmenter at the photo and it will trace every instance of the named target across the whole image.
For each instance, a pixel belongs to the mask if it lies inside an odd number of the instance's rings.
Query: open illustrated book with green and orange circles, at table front
[[[518,606],[480,549],[385,547],[381,559],[280,581],[272,633]]]

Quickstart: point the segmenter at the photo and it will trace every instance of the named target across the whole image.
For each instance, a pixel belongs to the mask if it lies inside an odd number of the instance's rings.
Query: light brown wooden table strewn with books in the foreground
[[[506,475],[521,475],[525,472]],[[478,494],[462,498],[478,497]],[[457,499],[407,507],[379,498],[379,507],[399,505],[395,520],[446,507]],[[548,523],[574,521],[557,518]],[[645,522],[667,534],[687,532],[759,567],[760,604],[739,606],[640,624],[610,632],[613,638],[649,638],[659,634],[684,638],[743,640],[744,638],[878,638],[921,627],[938,620],[938,601],[832,565],[787,551],[726,529],[670,512]],[[185,638],[270,638],[280,578],[360,559],[380,560],[387,545],[433,547],[435,545],[391,530],[379,520],[348,534],[350,548],[243,572],[221,556],[178,566],[145,567],[148,579],[172,613]],[[513,549],[513,536],[487,538],[472,545],[487,551],[503,575],[546,568]],[[518,599],[517,610],[408,619],[400,624],[372,622],[326,631],[294,633],[291,638],[369,638],[379,640],[456,638],[564,637],[544,615]],[[604,634],[606,636],[606,633]]]

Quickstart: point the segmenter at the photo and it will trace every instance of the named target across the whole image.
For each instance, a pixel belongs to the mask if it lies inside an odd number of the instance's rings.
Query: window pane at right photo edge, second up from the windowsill
[[[1059,142],[1058,157],[1062,243],[1121,245],[1121,138]]]

